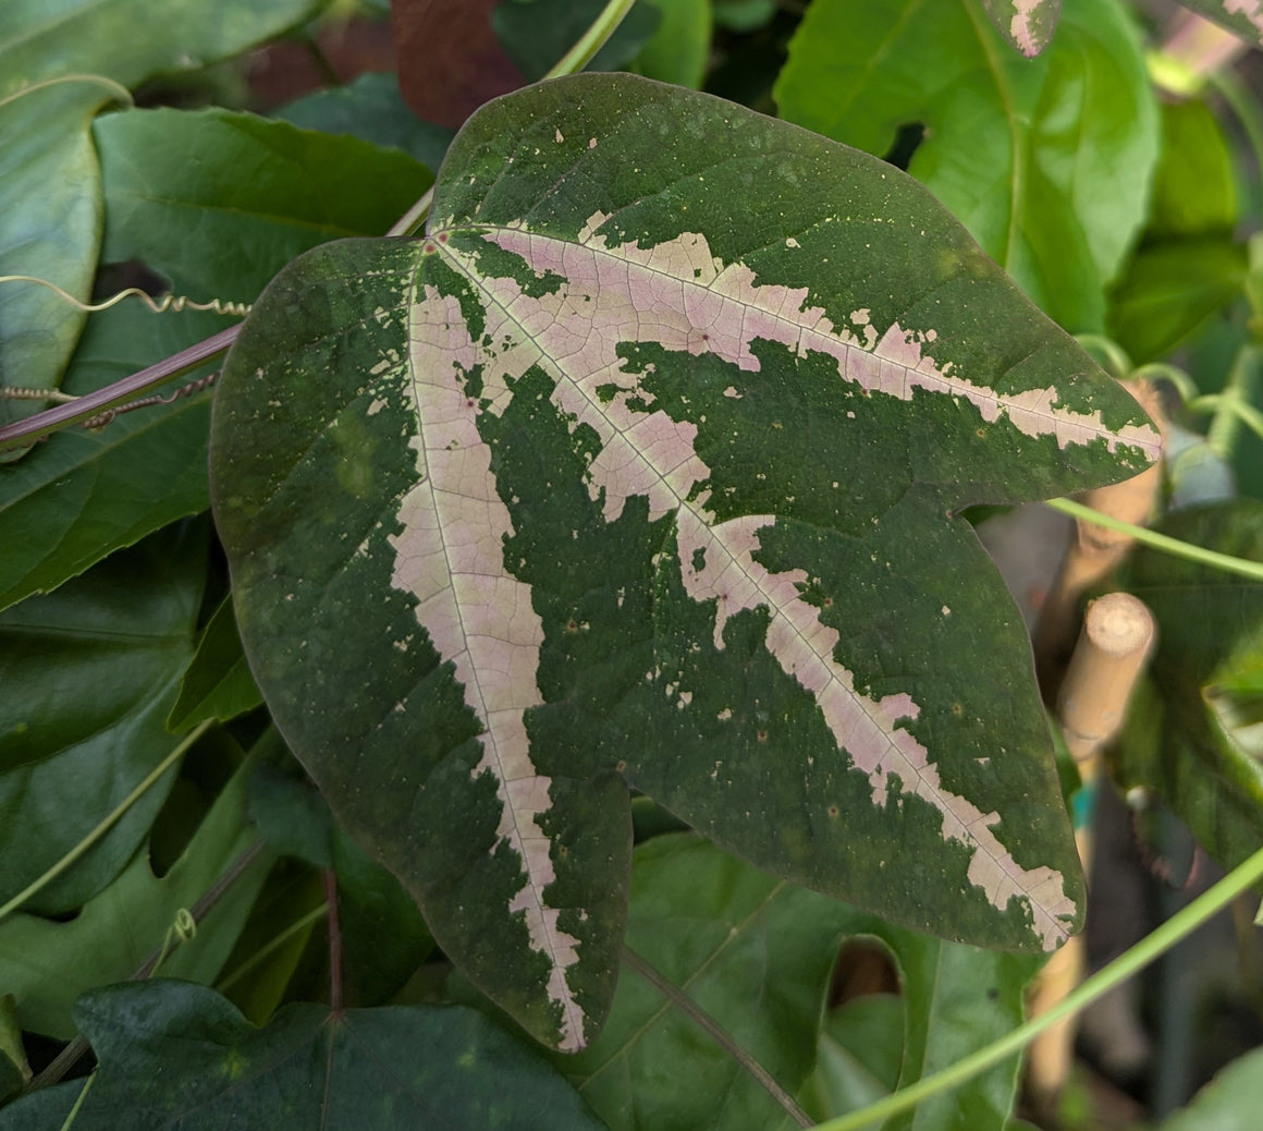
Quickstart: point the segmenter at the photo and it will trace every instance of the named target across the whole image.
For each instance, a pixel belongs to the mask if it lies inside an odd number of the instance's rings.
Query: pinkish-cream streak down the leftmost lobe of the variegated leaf
[[[548,958],[548,996],[562,1012],[560,1048],[573,1051],[585,1043],[584,1011],[566,972],[578,960],[578,939],[561,930],[560,912],[544,902],[556,872],[538,819],[551,805],[551,780],[536,773],[524,720],[543,701],[536,684],[543,626],[530,586],[504,569],[513,522],[477,432],[479,408],[461,387],[460,372],[477,351],[456,299],[428,284],[414,294],[409,339],[417,485],[399,509],[403,531],[390,540],[392,584],[417,598],[417,620],[455,665],[465,701],[486,728],[474,777],[494,776],[496,843],[506,842],[525,872],[508,910],[524,914],[530,945]]]

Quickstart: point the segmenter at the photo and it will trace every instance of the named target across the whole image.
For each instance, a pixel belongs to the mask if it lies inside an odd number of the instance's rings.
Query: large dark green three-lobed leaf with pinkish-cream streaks
[[[573,1050],[629,785],[911,926],[1074,929],[1029,644],[959,512],[1157,451],[911,178],[584,75],[471,119],[423,239],[278,275],[211,478],[290,748],[452,960]]]

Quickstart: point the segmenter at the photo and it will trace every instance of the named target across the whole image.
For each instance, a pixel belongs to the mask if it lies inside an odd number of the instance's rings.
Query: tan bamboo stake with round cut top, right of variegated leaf
[[[1110,593],[1087,605],[1084,628],[1057,699],[1057,719],[1079,767],[1089,800],[1101,775],[1101,752],[1127,715],[1132,689],[1153,651],[1154,623],[1148,607],[1129,593]],[[1091,871],[1091,823],[1075,833],[1084,872]],[[1076,935],[1043,968],[1031,997],[1031,1015],[1047,1012],[1084,978],[1084,936]],[[1031,1046],[1029,1080],[1047,1102],[1066,1083],[1075,1045],[1075,1017],[1047,1029]]]

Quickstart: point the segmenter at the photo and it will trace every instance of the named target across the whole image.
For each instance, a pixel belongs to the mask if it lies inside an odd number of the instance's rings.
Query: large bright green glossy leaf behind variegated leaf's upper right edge
[[[775,88],[783,116],[887,153],[1062,326],[1099,330],[1103,288],[1144,221],[1158,123],[1116,0],[1067,0],[1052,45],[1017,56],[979,0],[816,0]]]

